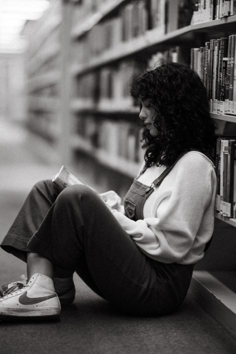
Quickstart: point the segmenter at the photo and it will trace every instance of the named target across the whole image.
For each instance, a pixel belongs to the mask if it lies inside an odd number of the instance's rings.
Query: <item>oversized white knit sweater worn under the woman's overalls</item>
[[[138,180],[151,185],[163,170],[152,166]],[[113,214],[149,257],[164,263],[196,263],[213,234],[216,186],[212,161],[190,151],[147,198],[143,220],[132,221],[117,210]]]

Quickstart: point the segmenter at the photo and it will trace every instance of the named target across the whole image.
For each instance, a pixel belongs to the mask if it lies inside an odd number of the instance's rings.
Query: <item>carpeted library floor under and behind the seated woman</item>
[[[37,157],[31,143],[22,128],[0,119],[0,240],[31,186],[59,167]],[[0,250],[0,269],[0,282],[16,280],[25,264]],[[1,321],[0,353],[236,353],[236,341],[190,295],[171,315],[141,318],[116,313],[78,276],[75,284],[75,302],[62,310],[59,322]]]

